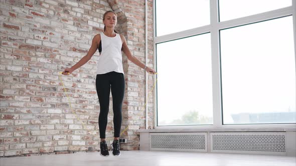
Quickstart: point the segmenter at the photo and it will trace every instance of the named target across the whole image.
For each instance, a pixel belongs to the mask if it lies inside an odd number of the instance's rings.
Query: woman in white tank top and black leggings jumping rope
[[[120,155],[119,151],[119,136],[121,127],[121,107],[124,96],[124,73],[122,65],[121,50],[125,53],[127,58],[145,69],[147,72],[155,74],[156,71],[143,63],[136,57],[131,55],[123,35],[119,35],[114,27],[117,22],[117,15],[113,11],[106,11],[103,16],[103,23],[105,24],[104,31],[96,34],[93,37],[91,47],[87,54],[82,57],[71,68],[65,68],[63,74],[71,74],[75,69],[85,64],[92,55],[99,49],[100,57],[97,64],[96,75],[96,90],[100,103],[99,114],[99,131],[100,131],[100,154],[102,156],[109,156],[108,146],[105,141],[105,132],[107,126],[107,115],[109,111],[109,95],[110,89],[113,98],[113,123],[114,123],[114,141],[112,154],[114,156]]]

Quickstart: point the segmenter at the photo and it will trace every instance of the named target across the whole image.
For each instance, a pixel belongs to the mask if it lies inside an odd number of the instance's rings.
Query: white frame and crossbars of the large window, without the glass
[[[293,36],[294,36],[294,51],[296,59],[296,0],[292,0],[292,5],[284,8],[279,8],[272,11],[267,11],[259,14],[254,14],[250,16],[240,17],[236,19],[226,20],[218,22],[218,0],[210,0],[210,19],[211,24],[206,26],[201,26],[189,30],[184,30],[181,32],[171,33],[162,36],[156,36],[156,21],[155,21],[155,2],[153,1],[153,35],[154,35],[154,50],[156,50],[156,44],[170,41],[174,39],[179,39],[183,37],[198,35],[206,32],[211,33],[211,51],[212,51],[212,81],[213,81],[213,125],[181,125],[181,126],[157,126],[157,91],[154,89],[154,127],[156,129],[243,129],[243,128],[253,128],[263,130],[266,128],[287,128],[296,129],[296,124],[222,124],[222,101],[221,101],[221,70],[220,70],[220,41],[219,41],[219,30],[250,24],[254,22],[260,22],[268,19],[283,17],[292,15],[293,17]],[[295,60],[296,63],[296,60]],[[156,66],[156,51],[154,51],[154,66]],[[154,77],[156,81],[156,77]],[[296,93],[296,91],[295,91]]]

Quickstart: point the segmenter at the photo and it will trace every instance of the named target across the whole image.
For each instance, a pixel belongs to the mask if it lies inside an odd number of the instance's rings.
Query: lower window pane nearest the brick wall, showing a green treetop
[[[157,44],[158,125],[213,123],[210,38]]]

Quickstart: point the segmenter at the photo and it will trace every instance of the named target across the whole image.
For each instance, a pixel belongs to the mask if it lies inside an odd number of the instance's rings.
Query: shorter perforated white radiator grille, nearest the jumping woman
[[[151,150],[207,151],[206,132],[150,133]]]

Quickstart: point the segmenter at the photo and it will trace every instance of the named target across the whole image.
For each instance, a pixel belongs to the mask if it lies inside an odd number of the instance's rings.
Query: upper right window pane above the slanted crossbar
[[[292,5],[292,0],[219,0],[220,21]]]

